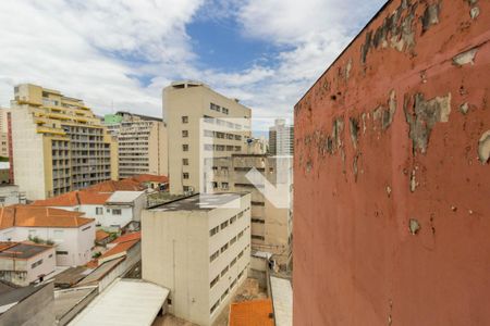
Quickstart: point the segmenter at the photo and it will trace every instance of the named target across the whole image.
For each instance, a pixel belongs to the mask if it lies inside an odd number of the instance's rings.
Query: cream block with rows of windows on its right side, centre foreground
[[[169,312],[212,325],[246,279],[250,195],[195,195],[144,211],[143,278],[170,289]]]

